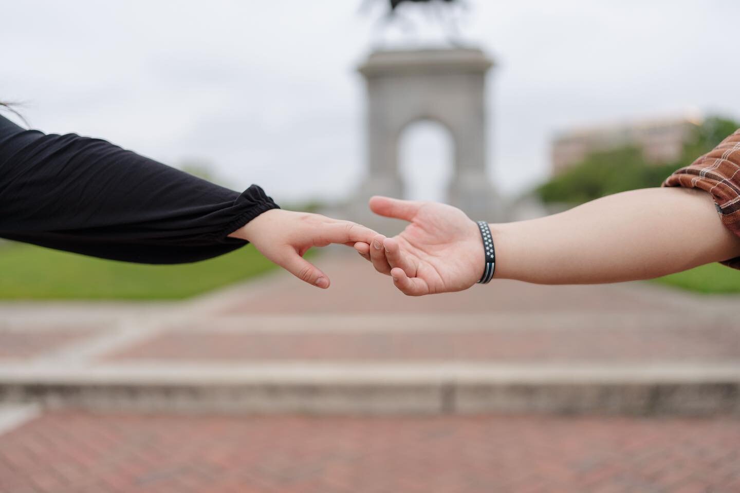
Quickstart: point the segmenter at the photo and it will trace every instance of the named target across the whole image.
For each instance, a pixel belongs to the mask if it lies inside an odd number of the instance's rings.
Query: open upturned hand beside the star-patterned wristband
[[[410,222],[396,237],[375,236],[354,248],[408,296],[470,288],[485,265],[477,224],[460,209],[434,202],[372,197],[375,214]]]

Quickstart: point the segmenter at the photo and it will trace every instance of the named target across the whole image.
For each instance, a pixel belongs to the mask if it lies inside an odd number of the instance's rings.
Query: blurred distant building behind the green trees
[[[665,118],[593,126],[559,134],[552,143],[552,171],[561,173],[592,152],[624,146],[642,149],[652,163],[670,163],[681,157],[684,142],[701,120]]]

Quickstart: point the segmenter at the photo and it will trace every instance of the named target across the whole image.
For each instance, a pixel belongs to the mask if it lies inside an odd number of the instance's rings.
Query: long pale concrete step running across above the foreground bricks
[[[2,364],[0,401],[237,414],[740,415],[740,364]]]

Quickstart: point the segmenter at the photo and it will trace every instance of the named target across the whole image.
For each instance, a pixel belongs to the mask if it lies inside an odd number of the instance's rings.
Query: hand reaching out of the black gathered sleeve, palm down
[[[311,247],[331,243],[369,243],[375,231],[354,222],[334,220],[320,214],[271,209],[243,225],[229,237],[246,239],[261,254],[298,279],[319,288],[329,288],[329,277],[303,254]]]

